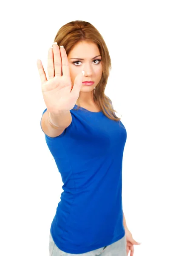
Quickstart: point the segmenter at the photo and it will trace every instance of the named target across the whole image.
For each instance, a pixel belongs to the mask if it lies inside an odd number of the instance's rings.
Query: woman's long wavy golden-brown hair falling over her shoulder
[[[71,49],[80,41],[87,41],[95,43],[102,56],[102,77],[99,84],[94,89],[94,102],[101,109],[109,119],[119,121],[121,118],[117,117],[111,99],[105,95],[105,87],[108,81],[111,70],[111,58],[105,41],[99,31],[89,22],[82,20],[71,21],[62,26],[54,38],[59,46],[63,45],[67,55]],[[79,98],[77,100],[79,109]]]

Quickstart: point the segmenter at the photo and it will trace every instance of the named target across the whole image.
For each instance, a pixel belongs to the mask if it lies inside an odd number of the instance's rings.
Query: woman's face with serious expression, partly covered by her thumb
[[[68,63],[72,85],[76,76],[85,71],[83,82],[94,81],[92,85],[82,84],[81,92],[94,90],[102,77],[102,58],[96,44],[80,41],[68,54]]]

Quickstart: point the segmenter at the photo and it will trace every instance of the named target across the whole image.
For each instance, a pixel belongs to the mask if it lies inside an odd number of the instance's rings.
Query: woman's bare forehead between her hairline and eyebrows
[[[85,41],[78,42],[68,54],[70,58],[93,58],[96,55],[100,55],[97,45]]]

